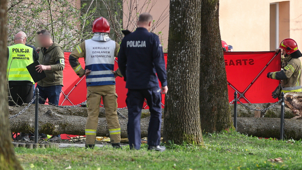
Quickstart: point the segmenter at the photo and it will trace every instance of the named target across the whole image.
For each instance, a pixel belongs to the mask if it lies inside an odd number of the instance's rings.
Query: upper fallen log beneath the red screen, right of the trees
[[[301,103],[302,104],[302,103]],[[271,106],[271,103],[253,103],[253,104],[245,104],[249,107],[256,108],[260,107],[260,109],[265,109]],[[230,105],[232,116],[234,115],[234,104]],[[261,111],[260,117],[271,117],[271,118],[280,118],[281,114],[281,104],[276,105],[275,107],[267,110],[266,112]],[[286,119],[291,119],[295,116],[300,116],[299,113],[295,110],[292,110],[287,105],[284,109],[284,115]],[[237,117],[255,117],[255,111],[250,110],[244,107],[242,104],[237,104]]]

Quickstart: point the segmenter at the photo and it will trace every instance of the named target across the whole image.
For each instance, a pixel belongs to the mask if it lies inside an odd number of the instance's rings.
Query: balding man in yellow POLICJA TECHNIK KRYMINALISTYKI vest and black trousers
[[[25,45],[26,36],[21,32],[14,37],[15,45],[8,47],[7,79],[11,93],[9,105],[29,103],[33,99],[33,84],[26,66],[38,59],[33,48]],[[13,102],[13,101],[14,102]]]

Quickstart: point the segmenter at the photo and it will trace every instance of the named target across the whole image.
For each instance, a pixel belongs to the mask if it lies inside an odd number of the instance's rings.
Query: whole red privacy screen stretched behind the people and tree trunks
[[[85,76],[79,78],[69,64],[70,52],[65,52],[65,68],[63,70],[62,93],[59,105],[76,105],[86,100]],[[271,98],[271,92],[278,86],[278,80],[266,78],[267,72],[280,71],[280,54],[275,52],[225,52],[226,76],[228,81],[229,101],[233,100],[234,91],[238,92],[238,98],[243,103],[268,103],[276,102]],[[85,62],[81,58],[80,63],[84,68]],[[165,53],[167,62],[167,53]],[[114,69],[117,69],[117,61]],[[127,89],[124,78],[116,78],[116,93],[118,95],[118,107],[126,107]],[[169,87],[172,88],[172,87]],[[239,94],[242,94],[240,97]],[[218,97],[218,96],[217,96]],[[162,95],[162,107],[164,107],[165,95]],[[148,108],[144,104],[144,108]]]

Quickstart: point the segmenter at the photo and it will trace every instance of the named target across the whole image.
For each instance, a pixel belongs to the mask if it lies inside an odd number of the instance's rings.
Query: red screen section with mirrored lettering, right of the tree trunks
[[[229,101],[235,90],[243,103],[273,103],[271,92],[279,81],[268,79],[268,72],[280,71],[281,56],[275,52],[224,52]],[[240,95],[241,94],[241,95]]]

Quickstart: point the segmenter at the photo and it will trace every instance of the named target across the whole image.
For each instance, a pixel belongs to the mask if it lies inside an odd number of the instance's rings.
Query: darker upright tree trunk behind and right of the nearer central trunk
[[[219,0],[201,1],[200,117],[204,132],[233,127],[219,29]]]

